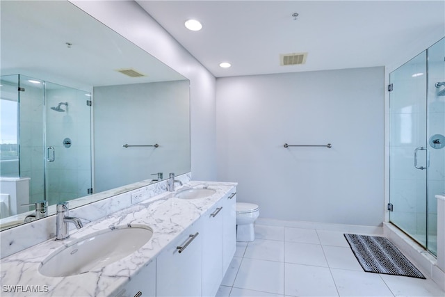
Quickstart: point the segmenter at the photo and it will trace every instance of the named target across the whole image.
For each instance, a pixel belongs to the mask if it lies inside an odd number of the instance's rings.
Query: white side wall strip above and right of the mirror
[[[193,179],[216,179],[215,78],[133,1],[70,1],[190,79]]]

